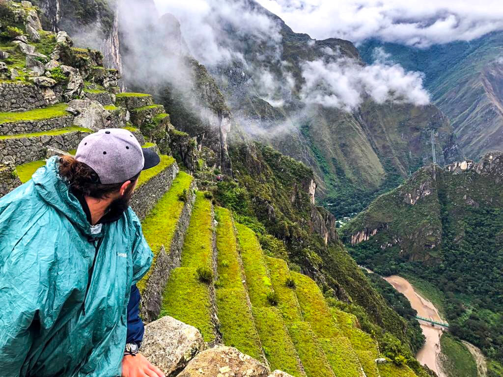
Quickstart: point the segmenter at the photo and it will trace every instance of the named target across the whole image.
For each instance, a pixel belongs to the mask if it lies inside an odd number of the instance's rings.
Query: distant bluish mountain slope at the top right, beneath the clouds
[[[503,150],[503,32],[427,49],[376,40],[358,48],[366,62],[382,48],[388,59],[424,72],[434,103],[449,117],[469,158]]]

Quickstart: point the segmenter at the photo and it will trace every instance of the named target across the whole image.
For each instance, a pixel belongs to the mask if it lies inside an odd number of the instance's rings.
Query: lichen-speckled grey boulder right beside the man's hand
[[[145,326],[141,353],[166,376],[176,375],[205,347],[201,333],[173,317]]]

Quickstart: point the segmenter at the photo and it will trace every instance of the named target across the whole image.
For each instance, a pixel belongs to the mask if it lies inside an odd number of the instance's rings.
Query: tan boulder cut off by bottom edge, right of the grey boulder
[[[267,377],[269,369],[258,360],[226,346],[199,353],[178,377]]]

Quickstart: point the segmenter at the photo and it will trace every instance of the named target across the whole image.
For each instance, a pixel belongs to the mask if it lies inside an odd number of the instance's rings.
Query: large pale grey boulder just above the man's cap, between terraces
[[[66,111],[75,116],[74,126],[89,128],[93,131],[110,128],[112,115],[97,101],[73,100],[68,104]]]

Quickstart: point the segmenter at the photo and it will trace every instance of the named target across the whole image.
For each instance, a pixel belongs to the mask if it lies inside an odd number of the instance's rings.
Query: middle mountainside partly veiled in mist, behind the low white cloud
[[[280,40],[247,34],[219,20],[215,25],[219,42],[243,58],[209,70],[249,134],[314,169],[318,196],[332,213],[360,211],[369,197],[395,187],[410,172],[430,163],[432,129],[437,132],[439,162],[459,158],[453,130],[435,106],[379,105],[366,98],[357,110],[348,112],[309,104],[301,92],[306,62],[330,64],[346,58],[361,64],[358,50],[349,41],[316,41],[294,33],[253,1],[242,2],[242,7],[243,12],[265,15]],[[278,84],[267,87],[265,80]]]

